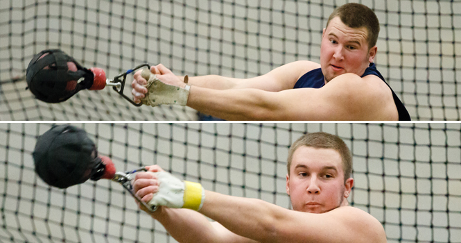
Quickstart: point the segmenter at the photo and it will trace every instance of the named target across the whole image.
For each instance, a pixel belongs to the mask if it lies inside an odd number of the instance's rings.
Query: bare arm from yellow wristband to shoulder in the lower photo
[[[351,207],[312,214],[207,191],[200,212],[259,242],[386,242],[379,221]]]

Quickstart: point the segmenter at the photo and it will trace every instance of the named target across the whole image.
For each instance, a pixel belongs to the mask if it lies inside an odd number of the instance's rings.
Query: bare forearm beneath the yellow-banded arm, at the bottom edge
[[[218,242],[216,229],[199,212],[166,207],[158,210],[153,218],[178,242]]]

